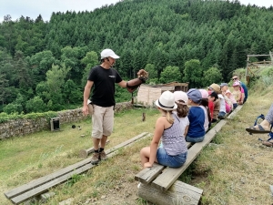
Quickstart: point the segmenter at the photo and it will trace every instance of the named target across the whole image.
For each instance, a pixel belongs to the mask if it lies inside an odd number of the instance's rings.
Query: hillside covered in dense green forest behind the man
[[[247,54],[273,50],[272,19],[273,6],[200,0],[124,0],[93,12],[53,13],[49,22],[5,15],[0,112],[81,105],[87,73],[106,47],[121,56],[115,67],[125,79],[146,67],[149,83],[229,81]],[[121,88],[116,96],[130,97]]]

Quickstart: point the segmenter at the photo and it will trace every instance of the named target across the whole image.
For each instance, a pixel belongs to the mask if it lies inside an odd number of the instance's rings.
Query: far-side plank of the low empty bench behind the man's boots
[[[130,143],[136,141],[138,138],[143,138],[147,134],[148,134],[147,132],[143,132],[140,135],[137,135],[135,138],[130,138],[130,139],[126,140],[125,142],[117,145],[116,147],[114,147],[112,149],[107,149],[106,154],[110,154],[111,152],[114,152],[116,149],[120,149],[120,148],[130,144]],[[56,171],[54,173],[46,175],[45,177],[31,180],[30,182],[28,182],[28,183],[26,183],[26,184],[24,184],[22,186],[19,186],[19,187],[13,189],[13,190],[6,191],[4,193],[5,197],[7,199],[11,199],[11,198],[14,198],[15,196],[18,196],[19,194],[24,193],[25,191],[33,190],[36,187],[38,187],[40,185],[43,185],[43,184],[45,184],[46,182],[48,182],[50,180],[59,178],[59,177],[61,177],[63,175],[66,175],[66,173],[69,173],[69,172],[71,172],[71,171],[73,171],[75,169],[79,169],[79,168],[85,166],[86,164],[90,163],[90,161],[91,161],[91,158],[87,158],[87,159],[84,159],[82,161],[77,162],[76,164],[70,165],[70,166],[66,167],[65,169],[60,169],[60,170],[58,170],[58,171]]]

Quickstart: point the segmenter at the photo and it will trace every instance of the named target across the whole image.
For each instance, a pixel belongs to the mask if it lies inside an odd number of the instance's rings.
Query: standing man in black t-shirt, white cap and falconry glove
[[[115,83],[120,87],[126,87],[129,92],[133,92],[136,87],[146,80],[138,77],[128,82],[124,81],[117,71],[112,68],[116,59],[119,58],[113,50],[105,49],[100,56],[101,64],[90,70],[84,91],[83,114],[90,113],[92,115],[92,137],[95,150],[91,159],[92,164],[106,159],[106,152],[104,151],[106,139],[111,135],[114,127]],[[140,71],[143,72],[144,70]],[[137,73],[138,76],[140,71]],[[90,102],[88,97],[92,87],[93,94]],[[93,111],[91,111],[92,108]],[[100,148],[98,149],[99,143]]]

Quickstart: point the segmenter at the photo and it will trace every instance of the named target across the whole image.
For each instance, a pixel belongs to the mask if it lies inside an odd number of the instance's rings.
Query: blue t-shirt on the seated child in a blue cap
[[[187,118],[189,120],[187,136],[190,138],[205,136],[205,112],[203,109],[196,106],[189,108]]]

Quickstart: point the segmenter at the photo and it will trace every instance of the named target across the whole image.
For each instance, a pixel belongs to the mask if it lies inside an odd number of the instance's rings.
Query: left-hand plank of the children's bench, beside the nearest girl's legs
[[[187,142],[187,148],[191,145],[191,142]],[[142,169],[135,175],[135,179],[144,184],[150,183],[152,180],[156,179],[157,176],[162,172],[166,167],[155,163],[152,168]]]

